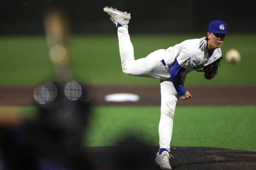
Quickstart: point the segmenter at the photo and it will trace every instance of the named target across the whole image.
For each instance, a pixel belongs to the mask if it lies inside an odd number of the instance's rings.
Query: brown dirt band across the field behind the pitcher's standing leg
[[[32,87],[0,87],[0,105],[30,106],[35,101]],[[95,106],[160,106],[160,86],[93,86]],[[186,87],[192,94],[191,100],[180,100],[177,105],[255,105],[256,86],[211,86]],[[106,102],[105,96],[114,93],[132,93],[140,97],[138,102]]]

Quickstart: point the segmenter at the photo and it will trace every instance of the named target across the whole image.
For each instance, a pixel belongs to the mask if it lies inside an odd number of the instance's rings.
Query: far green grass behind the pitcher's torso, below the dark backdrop
[[[134,34],[130,33],[135,58],[147,56],[158,49],[166,49],[186,39],[201,38],[203,34]],[[205,80],[202,73],[188,75],[187,85],[256,85],[256,34],[228,36],[222,47],[240,51],[239,64],[221,62],[219,75]],[[70,37],[71,64],[74,79],[93,84],[159,84],[158,80],[138,78],[122,73],[117,35],[74,35]],[[35,85],[54,77],[44,36],[0,36],[0,86]]]

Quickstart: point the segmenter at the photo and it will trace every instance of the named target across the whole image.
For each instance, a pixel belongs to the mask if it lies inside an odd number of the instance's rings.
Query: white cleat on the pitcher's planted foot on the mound
[[[160,155],[159,155],[159,151],[158,151],[156,153],[155,163],[160,165],[160,169],[162,169],[162,170],[170,170],[171,165],[169,162],[169,158],[170,158],[170,156],[167,151],[162,152]]]

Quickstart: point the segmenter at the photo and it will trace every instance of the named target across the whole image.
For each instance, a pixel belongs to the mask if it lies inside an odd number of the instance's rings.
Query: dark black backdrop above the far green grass
[[[114,33],[105,6],[130,12],[129,29],[138,33],[206,32],[215,19],[227,22],[230,33],[256,31],[249,0],[6,0],[1,1],[0,34],[43,34],[43,16],[53,7],[65,12],[72,33]]]

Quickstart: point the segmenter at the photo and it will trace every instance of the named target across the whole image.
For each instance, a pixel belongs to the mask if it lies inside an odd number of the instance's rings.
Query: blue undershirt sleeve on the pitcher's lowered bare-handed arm
[[[179,96],[183,96],[187,90],[182,85],[180,73],[184,71],[185,68],[181,67],[178,61],[176,60],[174,65],[171,67],[169,73],[171,75],[172,84],[174,85],[175,90],[178,92]]]

